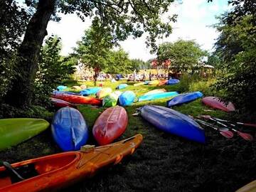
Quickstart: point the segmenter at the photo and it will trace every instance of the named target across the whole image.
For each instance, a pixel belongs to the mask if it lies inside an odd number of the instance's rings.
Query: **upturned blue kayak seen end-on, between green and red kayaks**
[[[63,107],[55,113],[51,131],[63,151],[80,150],[89,136],[85,119],[72,107]]]

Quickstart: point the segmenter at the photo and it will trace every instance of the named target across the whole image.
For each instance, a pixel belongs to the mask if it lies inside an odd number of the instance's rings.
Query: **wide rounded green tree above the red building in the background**
[[[178,71],[195,68],[203,56],[206,56],[206,51],[201,50],[195,41],[181,39],[175,43],[162,43],[157,50],[159,63],[171,60],[171,68]]]

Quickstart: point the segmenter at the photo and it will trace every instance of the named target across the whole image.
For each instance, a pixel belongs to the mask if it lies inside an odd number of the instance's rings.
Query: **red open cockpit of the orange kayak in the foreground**
[[[17,183],[28,178],[40,177],[43,174],[61,169],[75,161],[78,156],[78,153],[57,154],[49,156],[47,159],[38,158],[21,161],[19,163],[12,164],[11,168],[0,166],[0,188],[10,186],[13,183]],[[17,174],[15,174],[15,172]]]

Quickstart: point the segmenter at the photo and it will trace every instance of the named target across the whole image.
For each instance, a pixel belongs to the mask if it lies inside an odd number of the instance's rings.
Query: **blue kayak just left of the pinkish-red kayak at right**
[[[188,92],[181,95],[178,95],[171,100],[166,102],[167,107],[173,107],[175,105],[181,105],[183,103],[191,102],[200,97],[203,97],[203,93],[200,91],[197,92]]]

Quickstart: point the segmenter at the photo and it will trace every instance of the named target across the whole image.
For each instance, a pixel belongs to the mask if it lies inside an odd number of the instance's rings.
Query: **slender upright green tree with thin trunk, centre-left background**
[[[107,66],[107,57],[113,46],[110,31],[102,26],[99,20],[95,20],[91,28],[85,31],[82,41],[78,41],[78,48],[75,48],[75,52],[85,66],[95,71],[93,76],[95,85],[100,71]]]

